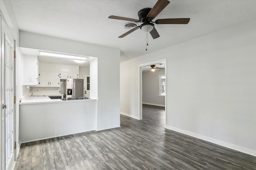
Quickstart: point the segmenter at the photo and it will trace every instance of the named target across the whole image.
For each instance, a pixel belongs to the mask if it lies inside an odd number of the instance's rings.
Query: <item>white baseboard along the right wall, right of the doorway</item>
[[[231,143],[226,143],[226,142],[223,142],[223,141],[219,141],[217,139],[213,139],[213,138],[210,138],[210,137],[206,137],[206,136],[203,136],[203,135],[199,135],[197,133],[193,133],[193,132],[190,132],[190,131],[186,131],[186,130],[183,130],[183,129],[179,129],[179,128],[176,128],[176,127],[172,127],[172,126],[169,126],[169,125],[166,125],[165,127],[166,129],[169,129],[169,130],[172,130],[172,131],[176,131],[176,132],[179,132],[179,133],[183,133],[185,135],[188,135],[188,136],[191,136],[191,137],[195,137],[195,138],[198,138],[198,139],[202,139],[204,141],[207,141],[207,142],[210,142],[210,143],[214,143],[216,145],[220,145],[222,147],[226,147],[226,148],[229,148],[229,149],[233,149],[233,150],[237,150],[239,152],[243,152],[243,153],[246,153],[246,154],[250,154],[252,156],[256,156],[256,151],[255,150],[250,150],[250,149],[247,149],[247,148],[244,148],[244,147],[240,147],[240,146],[237,146],[237,145],[233,145]]]

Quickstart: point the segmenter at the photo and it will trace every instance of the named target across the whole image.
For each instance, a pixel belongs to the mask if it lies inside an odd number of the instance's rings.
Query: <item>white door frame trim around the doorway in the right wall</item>
[[[138,86],[139,86],[139,119],[142,120],[142,67],[143,66],[148,66],[151,64],[156,64],[156,63],[160,63],[160,62],[165,62],[165,83],[166,83],[166,89],[165,89],[165,120],[164,120],[164,128],[167,125],[167,59],[162,59],[162,60],[158,60],[158,61],[153,61],[150,63],[144,63],[144,64],[140,64],[138,67],[138,77],[139,77],[139,82],[138,82]]]

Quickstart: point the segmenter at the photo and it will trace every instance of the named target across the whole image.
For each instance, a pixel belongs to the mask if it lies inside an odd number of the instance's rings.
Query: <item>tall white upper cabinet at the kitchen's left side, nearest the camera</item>
[[[22,85],[38,85],[38,60],[35,55],[23,55],[23,82]]]

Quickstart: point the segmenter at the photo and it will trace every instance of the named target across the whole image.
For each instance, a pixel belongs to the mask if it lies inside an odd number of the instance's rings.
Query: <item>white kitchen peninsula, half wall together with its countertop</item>
[[[20,142],[71,135],[96,128],[97,100],[22,98]]]

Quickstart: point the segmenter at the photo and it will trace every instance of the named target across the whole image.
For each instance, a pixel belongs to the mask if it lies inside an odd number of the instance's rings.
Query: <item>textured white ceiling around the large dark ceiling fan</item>
[[[138,11],[152,8],[157,0],[10,0],[21,30],[116,47],[121,61],[182,43],[256,19],[254,0],[171,0],[156,17],[191,18],[188,25],[156,25],[157,39],[140,29],[118,38],[126,21],[108,19],[122,16],[138,19]],[[155,19],[155,20],[156,20]],[[127,21],[128,22],[128,21]]]

